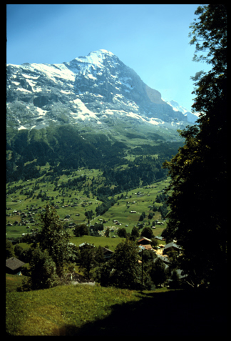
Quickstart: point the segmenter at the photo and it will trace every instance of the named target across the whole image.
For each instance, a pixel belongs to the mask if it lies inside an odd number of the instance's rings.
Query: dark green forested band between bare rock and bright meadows
[[[105,134],[81,134],[68,124],[11,130],[6,144],[6,182],[40,177],[40,167],[47,162],[52,176],[80,167],[101,169],[106,186],[114,184],[119,187],[117,192],[138,187],[140,181],[148,184],[165,177],[163,162],[173,157],[183,142],[157,142],[158,136],[153,135],[153,139],[138,140],[134,145],[134,137],[130,144],[129,139],[120,142]]]

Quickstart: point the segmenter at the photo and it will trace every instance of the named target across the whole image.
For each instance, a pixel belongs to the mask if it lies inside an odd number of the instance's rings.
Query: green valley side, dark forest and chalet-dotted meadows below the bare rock
[[[120,129],[117,135],[70,124],[18,132],[8,128],[7,238],[36,232],[47,202],[67,229],[84,222],[112,227],[116,220],[116,227],[131,232],[143,212],[142,227],[165,217],[167,207],[155,202],[169,182],[162,166],[183,139],[168,140],[167,134],[141,128],[133,133]]]

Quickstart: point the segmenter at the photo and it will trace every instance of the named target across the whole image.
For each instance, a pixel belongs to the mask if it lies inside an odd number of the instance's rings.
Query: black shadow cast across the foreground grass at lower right
[[[138,302],[113,305],[111,315],[81,328],[66,325],[61,335],[156,336],[227,335],[227,297],[212,292],[170,291]]]

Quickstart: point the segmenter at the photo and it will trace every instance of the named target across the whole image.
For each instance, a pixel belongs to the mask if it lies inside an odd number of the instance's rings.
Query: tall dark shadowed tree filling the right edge
[[[167,242],[177,239],[182,247],[180,266],[190,284],[217,285],[224,280],[227,265],[227,13],[222,5],[199,6],[191,24],[190,44],[195,61],[212,68],[192,77],[196,95],[193,110],[197,125],[180,132],[185,145],[170,162]],[[200,247],[198,243],[200,242]]]

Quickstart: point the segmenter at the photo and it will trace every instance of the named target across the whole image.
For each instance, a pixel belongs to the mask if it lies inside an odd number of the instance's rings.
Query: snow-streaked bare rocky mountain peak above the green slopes
[[[174,129],[188,124],[182,110],[163,101],[110,51],[61,64],[8,64],[6,69],[7,127],[70,123],[109,129],[126,122]]]

